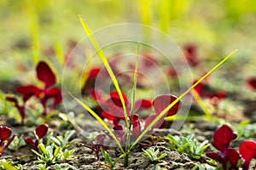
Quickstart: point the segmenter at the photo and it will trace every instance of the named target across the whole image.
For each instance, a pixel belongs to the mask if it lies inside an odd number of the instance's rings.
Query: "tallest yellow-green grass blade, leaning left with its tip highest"
[[[99,55],[100,59],[102,60],[103,65],[107,69],[108,74],[113,81],[113,85],[116,88],[117,93],[119,94],[119,98],[120,98],[122,106],[123,106],[126,127],[128,128],[129,122],[128,122],[128,117],[127,117],[127,113],[126,113],[126,109],[125,109],[125,99],[122,95],[121,89],[119,88],[119,83],[113,74],[113,71],[108,63],[108,59],[105,56],[105,54],[103,53],[102,48],[100,47],[99,43],[96,41],[96,38],[92,35],[90,28],[85,24],[84,20],[82,19],[82,17],[80,15],[79,15],[79,20],[80,20],[82,26],[84,27],[84,31],[87,34],[87,36],[89,37],[90,42],[92,43],[93,47],[96,49],[96,53]]]

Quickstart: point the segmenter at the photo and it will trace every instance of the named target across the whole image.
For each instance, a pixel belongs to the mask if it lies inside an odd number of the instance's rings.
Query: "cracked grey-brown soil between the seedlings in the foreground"
[[[33,137],[33,130],[35,127],[26,127],[20,126],[15,119],[6,118],[1,116],[0,124],[8,125],[12,130],[13,134],[18,136]],[[53,132],[54,136],[64,135],[70,129],[63,128],[60,126],[61,119],[55,117],[49,121],[49,132]],[[87,124],[89,129],[94,129],[94,122],[85,121],[84,124]],[[172,128],[162,128],[154,130],[154,138],[148,138],[143,141],[141,144],[138,144],[136,149],[132,150],[129,158],[129,167],[122,167],[122,160],[115,166],[116,169],[145,169],[145,170],[154,170],[154,169],[192,169],[195,166],[206,167],[207,166],[207,157],[201,156],[200,160],[195,160],[189,158],[186,153],[179,154],[175,150],[170,150],[162,137],[167,134],[180,135],[180,136],[189,136],[189,134],[194,134],[195,139],[201,143],[202,141],[208,140],[209,147],[207,151],[215,150],[212,146],[212,134],[218,127],[218,124],[214,122],[206,121],[194,121],[194,122],[185,122],[183,128],[179,131],[174,131]],[[252,138],[255,141],[255,136]],[[45,139],[44,139],[45,140]],[[83,135],[79,133],[74,133],[72,139],[73,142],[70,144],[68,150],[74,150],[73,155],[66,161],[57,161],[55,164],[47,165],[49,169],[55,169],[55,165],[58,164],[62,169],[109,169],[107,161],[104,157],[100,156],[100,161],[96,161],[96,154],[81,145],[89,144],[91,141],[89,139],[84,139]],[[154,141],[153,141],[154,140]],[[237,149],[237,146],[244,139],[241,137],[232,143]],[[148,145],[149,144],[149,145]],[[143,156],[143,150],[153,147],[155,150],[160,150],[160,154],[166,153],[166,156],[160,161],[150,161],[148,157]],[[120,151],[116,148],[107,147],[109,156],[114,158],[121,155]],[[20,147],[19,150],[11,151],[6,150],[2,158],[11,158],[13,161],[17,161],[22,165],[24,170],[38,169],[38,165],[35,163],[37,156],[32,154],[31,147],[25,145]]]

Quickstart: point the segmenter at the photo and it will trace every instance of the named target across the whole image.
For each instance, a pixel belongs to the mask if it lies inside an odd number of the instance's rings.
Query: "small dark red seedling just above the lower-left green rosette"
[[[38,150],[38,144],[40,143],[40,140],[44,137],[44,135],[48,131],[48,125],[47,124],[41,124],[36,127],[34,134],[36,139],[31,138],[24,138],[26,144],[30,144],[34,150]]]

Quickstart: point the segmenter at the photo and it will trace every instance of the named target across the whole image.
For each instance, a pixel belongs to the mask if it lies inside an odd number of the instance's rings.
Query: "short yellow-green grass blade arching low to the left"
[[[115,143],[118,144],[119,149],[124,153],[125,151],[123,150],[121,144],[119,143],[119,140],[116,138],[116,136],[110,130],[108,125],[102,120],[102,118],[100,116],[98,116],[96,114],[96,112],[92,111],[88,105],[85,105],[84,102],[82,102],[81,100],[77,99],[72,94],[70,94],[70,95],[73,97],[73,99],[75,99],[79,103],[79,105],[83,106],[86,111],[89,111],[90,115],[94,116],[96,118],[96,120],[101,123],[102,127],[104,127],[108,131],[110,136],[112,136],[112,138],[114,139]]]

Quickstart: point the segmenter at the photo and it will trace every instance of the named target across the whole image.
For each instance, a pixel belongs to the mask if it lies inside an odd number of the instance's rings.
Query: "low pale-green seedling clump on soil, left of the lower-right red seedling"
[[[198,141],[193,138],[193,135],[179,137],[169,134],[166,136],[166,139],[168,140],[167,145],[171,150],[175,150],[180,154],[187,153],[190,158],[196,160],[201,159],[202,154],[209,146],[208,140],[198,144]]]

